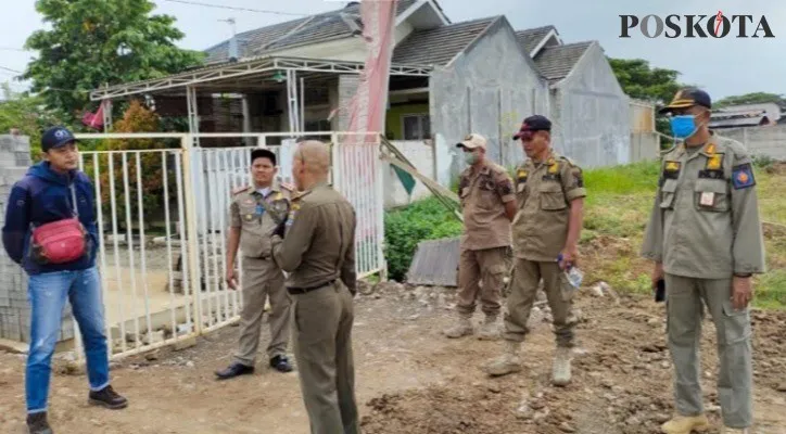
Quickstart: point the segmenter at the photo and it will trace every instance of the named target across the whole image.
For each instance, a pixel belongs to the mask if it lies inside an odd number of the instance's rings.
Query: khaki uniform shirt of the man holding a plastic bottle
[[[516,169],[516,257],[556,261],[568,238],[570,203],[584,196],[582,170],[568,157],[552,151],[543,163],[527,158]]]

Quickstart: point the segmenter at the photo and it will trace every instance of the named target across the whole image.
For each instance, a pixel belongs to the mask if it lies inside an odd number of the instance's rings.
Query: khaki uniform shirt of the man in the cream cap
[[[458,184],[464,210],[461,250],[479,251],[509,246],[510,220],[505,204],[516,200],[504,167],[486,161],[480,170],[467,168]]]

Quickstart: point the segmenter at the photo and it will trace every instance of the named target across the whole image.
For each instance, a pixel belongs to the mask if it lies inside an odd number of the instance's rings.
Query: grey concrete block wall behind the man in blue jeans
[[[14,183],[31,164],[29,139],[0,136],[0,227],[5,226],[5,206]],[[30,306],[27,301],[27,275],[0,248],[0,337],[30,341]],[[74,337],[71,306],[63,312],[59,341]]]

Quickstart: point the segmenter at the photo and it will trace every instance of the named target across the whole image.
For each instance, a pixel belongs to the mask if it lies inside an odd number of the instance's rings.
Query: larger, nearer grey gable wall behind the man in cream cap
[[[477,132],[489,141],[489,157],[504,166],[523,159],[520,144],[512,140],[521,120],[545,113],[547,106],[546,84],[504,17],[453,64],[432,72],[429,89],[438,151],[448,153]],[[454,158],[452,175],[464,167],[464,161]]]

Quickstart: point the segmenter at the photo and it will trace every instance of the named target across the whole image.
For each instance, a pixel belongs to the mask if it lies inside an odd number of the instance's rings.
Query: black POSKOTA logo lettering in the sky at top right
[[[731,15],[718,11],[714,15],[620,15],[620,38],[631,38],[638,28],[645,38],[774,38],[766,16]]]

